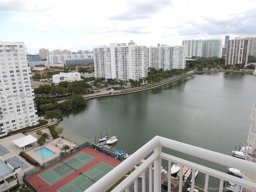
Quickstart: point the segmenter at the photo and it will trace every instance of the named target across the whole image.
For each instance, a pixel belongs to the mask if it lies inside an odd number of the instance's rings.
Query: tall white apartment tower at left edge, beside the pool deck
[[[24,42],[0,42],[0,135],[38,124]]]

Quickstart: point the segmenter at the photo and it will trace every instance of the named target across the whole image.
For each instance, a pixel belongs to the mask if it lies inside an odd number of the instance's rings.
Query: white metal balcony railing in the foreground
[[[217,164],[221,164],[228,167],[237,168],[239,170],[244,170],[250,174],[256,175],[256,169],[254,169],[255,164],[252,162],[248,162],[242,159],[234,158],[232,156],[220,154],[214,151],[206,150],[203,148],[199,148],[196,146],[192,146],[189,144],[184,144],[181,142],[177,142],[174,140],[170,140],[167,138],[163,138],[160,136],[154,137],[140,149],[138,149],[134,154],[132,154],[129,158],[124,160],[121,164],[116,166],[113,170],[111,170],[108,174],[103,176],[98,182],[94,185],[90,186],[86,190],[86,192],[92,191],[106,191],[112,185],[114,185],[120,178],[122,178],[127,172],[129,172],[136,164],[138,164],[143,158],[145,158],[148,154],[153,151],[153,154],[150,155],[146,161],[144,161],[134,172],[132,172],[127,178],[125,178],[114,190],[113,192],[123,192],[129,191],[129,186],[134,183],[134,192],[138,191],[138,176],[142,174],[142,191],[146,191],[146,182],[145,182],[145,170],[149,168],[149,191],[159,192],[161,191],[161,162],[162,159],[168,160],[168,191],[170,191],[170,167],[171,162],[175,162],[180,164],[180,170],[182,170],[183,166],[192,168],[192,179],[191,179],[191,191],[194,191],[195,185],[195,177],[194,173],[196,170],[206,174],[205,177],[205,189],[207,192],[209,176],[213,176],[215,178],[220,179],[220,192],[222,192],[224,181],[232,182],[237,184],[238,186],[243,187],[253,187],[255,190],[256,183],[250,180],[244,180],[242,178],[238,178],[224,172],[220,172],[218,170],[214,170],[212,168],[202,166],[200,164],[196,164],[194,162],[190,162],[188,160],[184,160],[178,158],[176,156],[172,156],[170,154],[166,154],[162,152],[162,147],[166,147],[172,150],[176,150],[182,152],[184,154],[192,155],[197,158],[201,158],[204,160],[208,160],[210,162],[214,162]],[[154,164],[154,172],[152,173],[152,164]],[[182,192],[182,171],[180,171],[180,182],[179,182],[179,192]],[[154,178],[154,179],[153,179]],[[153,185],[154,184],[154,185]]]

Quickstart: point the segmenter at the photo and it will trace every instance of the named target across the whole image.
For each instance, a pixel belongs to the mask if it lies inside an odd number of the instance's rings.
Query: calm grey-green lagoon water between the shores
[[[65,112],[58,126],[64,128],[65,138],[72,135],[79,144],[92,142],[94,134],[99,140],[100,131],[104,137],[107,128],[108,136],[118,138],[112,148],[130,153],[158,135],[232,155],[235,146],[247,145],[254,90],[252,74],[195,74],[154,90],[90,100],[87,106]],[[227,172],[225,166],[172,154]],[[162,161],[164,168],[167,164]],[[209,182],[219,185],[211,177]],[[196,185],[204,186],[204,174],[198,175]]]

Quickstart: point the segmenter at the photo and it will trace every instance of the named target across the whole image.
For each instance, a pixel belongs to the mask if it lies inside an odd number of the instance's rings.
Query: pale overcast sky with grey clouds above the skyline
[[[183,39],[256,36],[255,0],[1,0],[1,41],[92,50],[113,42],[181,45]]]

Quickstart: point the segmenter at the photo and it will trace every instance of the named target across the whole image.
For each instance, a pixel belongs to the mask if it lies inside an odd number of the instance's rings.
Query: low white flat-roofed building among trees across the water
[[[76,71],[71,71],[69,73],[60,73],[52,76],[52,80],[54,83],[59,83],[62,81],[79,81],[81,80],[81,74]]]

